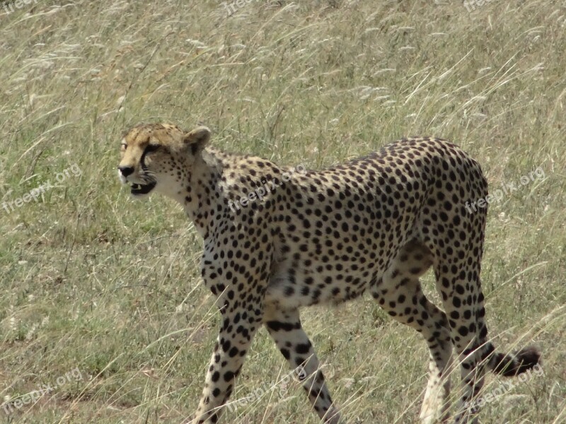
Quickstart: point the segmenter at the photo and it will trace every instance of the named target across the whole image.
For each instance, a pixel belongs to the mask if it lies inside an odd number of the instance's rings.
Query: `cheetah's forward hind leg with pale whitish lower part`
[[[371,295],[391,317],[417,330],[427,341],[429,381],[420,411],[422,424],[449,419],[452,343],[446,314],[426,298],[419,277],[432,265],[432,254],[420,242],[408,242],[371,287]]]

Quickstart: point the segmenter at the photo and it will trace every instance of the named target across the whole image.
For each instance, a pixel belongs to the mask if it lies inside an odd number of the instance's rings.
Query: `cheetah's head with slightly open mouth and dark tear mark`
[[[154,191],[175,196],[209,139],[210,130],[206,126],[189,133],[171,124],[134,126],[122,139],[120,182],[130,185],[134,197]]]

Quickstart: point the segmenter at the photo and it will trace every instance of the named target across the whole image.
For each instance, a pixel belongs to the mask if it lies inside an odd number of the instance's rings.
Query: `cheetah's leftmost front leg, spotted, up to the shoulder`
[[[270,245],[262,245],[257,257],[246,255],[245,259],[227,261],[223,258],[230,258],[233,249],[243,246],[246,240],[238,238],[236,241],[235,227],[224,233],[221,242],[217,241],[218,235],[213,235],[204,241],[201,275],[204,285],[217,297],[221,325],[200,403],[191,424],[219,421],[253,336],[262,323],[266,270],[270,269]],[[219,248],[219,245],[226,249]]]

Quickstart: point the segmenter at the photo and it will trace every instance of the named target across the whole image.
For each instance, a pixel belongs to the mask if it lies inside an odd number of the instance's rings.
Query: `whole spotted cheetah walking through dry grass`
[[[253,336],[265,326],[324,423],[330,397],[299,308],[368,292],[393,319],[424,337],[429,382],[420,421],[477,423],[486,370],[514,376],[536,366],[537,348],[497,353],[487,339],[480,284],[487,208],[480,165],[458,146],[428,137],[395,141],[325,170],[293,172],[208,146],[211,131],[139,124],[122,139],[118,174],[134,197],[178,201],[204,240],[201,274],[221,324],[191,423],[216,423]],[[253,195],[255,194],[255,195]],[[439,309],[420,276],[434,269]],[[452,347],[462,396],[450,415]]]

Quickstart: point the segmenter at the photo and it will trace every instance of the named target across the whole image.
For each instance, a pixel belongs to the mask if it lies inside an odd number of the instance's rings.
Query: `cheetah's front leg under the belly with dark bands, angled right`
[[[266,305],[263,322],[291,368],[297,370],[318,416],[326,424],[338,424],[340,413],[330,398],[313,345],[301,326],[299,310]]]

